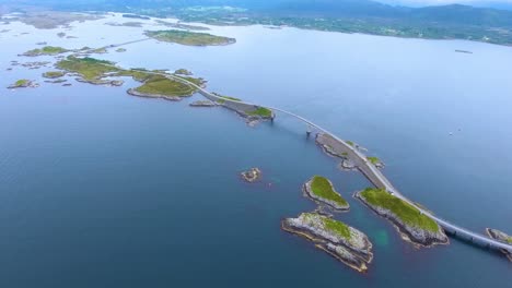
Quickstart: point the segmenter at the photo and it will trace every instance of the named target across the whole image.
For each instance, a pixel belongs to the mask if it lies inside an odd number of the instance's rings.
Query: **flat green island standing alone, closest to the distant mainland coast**
[[[176,43],[187,46],[218,46],[233,44],[235,39],[223,36],[216,36],[208,33],[195,33],[186,31],[147,31],[148,37],[160,41]]]

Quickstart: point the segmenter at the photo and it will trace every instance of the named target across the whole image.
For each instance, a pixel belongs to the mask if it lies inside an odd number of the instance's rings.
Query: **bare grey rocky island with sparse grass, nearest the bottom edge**
[[[368,237],[327,216],[303,213],[298,218],[283,219],[281,228],[306,238],[316,248],[359,272],[366,272],[366,264],[372,262],[372,243]]]

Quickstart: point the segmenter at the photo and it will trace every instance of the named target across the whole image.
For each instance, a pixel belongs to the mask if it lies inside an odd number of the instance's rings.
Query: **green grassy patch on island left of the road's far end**
[[[89,57],[78,58],[73,56],[57,62],[56,67],[58,69],[79,73],[88,81],[98,80],[104,77],[106,73],[118,72],[120,70],[114,67],[114,62]]]

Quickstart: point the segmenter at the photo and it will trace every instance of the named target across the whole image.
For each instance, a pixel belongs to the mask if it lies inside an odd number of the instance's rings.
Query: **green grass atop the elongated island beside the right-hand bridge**
[[[361,196],[371,205],[391,211],[407,225],[432,232],[438,232],[440,229],[432,218],[421,214],[418,208],[393,196],[383,189],[368,188],[361,192]]]

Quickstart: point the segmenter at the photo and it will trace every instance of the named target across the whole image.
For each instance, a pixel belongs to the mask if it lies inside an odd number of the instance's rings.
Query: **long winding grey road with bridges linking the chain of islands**
[[[143,39],[139,39],[139,40],[127,41],[127,43],[124,43],[124,44],[109,45],[109,46],[106,46],[104,48],[119,47],[119,46],[129,45],[129,44],[133,44],[133,43],[146,41],[146,40],[149,40],[149,39],[150,38],[143,38]],[[263,107],[263,108],[270,109],[272,111],[277,111],[277,112],[281,112],[281,113],[291,116],[291,117],[304,122],[310,128],[314,128],[317,131],[333,137],[336,141],[336,143],[344,146],[345,151],[347,151],[349,153],[348,156],[350,157],[350,159],[354,161],[358,169],[369,179],[370,182],[373,183],[373,185],[375,185],[376,188],[386,190],[392,195],[394,195],[394,196],[403,200],[404,202],[408,203],[409,205],[416,207],[421,214],[434,219],[445,231],[447,231],[447,232],[450,232],[450,233],[452,233],[454,236],[457,236],[459,238],[466,239],[466,240],[468,240],[468,241],[470,241],[473,243],[480,243],[480,244],[482,244],[485,247],[488,247],[488,248],[491,248],[491,249],[501,249],[501,250],[509,251],[510,253],[512,253],[512,244],[494,240],[494,239],[489,238],[487,236],[484,236],[481,233],[473,232],[473,231],[470,231],[468,229],[465,229],[465,228],[463,228],[461,226],[457,226],[457,225],[452,224],[452,223],[450,223],[447,220],[444,220],[443,218],[438,217],[433,213],[418,206],[418,204],[416,204],[415,202],[407,199],[395,187],[393,187],[393,184],[389,182],[389,180],[387,180],[387,178],[372,163],[370,163],[370,160],[368,160],[366,156],[363,155],[357,147],[348,144],[342,139],[336,136],[336,134],[334,134],[334,133],[329,132],[328,130],[317,125],[313,121],[310,121],[310,120],[307,120],[307,119],[305,119],[305,118],[303,118],[303,117],[301,117],[301,116],[299,116],[296,113],[293,113],[293,112],[290,112],[290,111],[287,111],[287,110],[283,110],[283,109],[280,109],[280,108],[276,108],[276,107],[271,107],[271,106],[261,106],[261,105],[257,105],[257,104],[252,104],[252,103],[246,103],[246,101],[241,101],[241,100],[234,100],[234,99],[220,97],[220,96],[218,96],[218,95],[216,95],[213,93],[208,92],[203,87],[201,87],[201,86],[199,86],[199,85],[197,85],[197,84],[195,84],[195,83],[193,83],[193,82],[190,82],[190,81],[188,81],[188,80],[186,80],[184,77],[177,76],[177,75],[172,75],[172,74],[161,73],[161,72],[154,72],[154,71],[144,71],[144,72],[162,75],[162,76],[165,76],[165,77],[167,77],[170,80],[174,80],[174,81],[177,81],[177,82],[183,83],[185,85],[188,85],[188,86],[197,89],[202,96],[205,96],[206,98],[208,98],[208,99],[210,99],[212,101],[222,101],[224,104],[244,106],[244,107],[247,107],[247,108]]]

